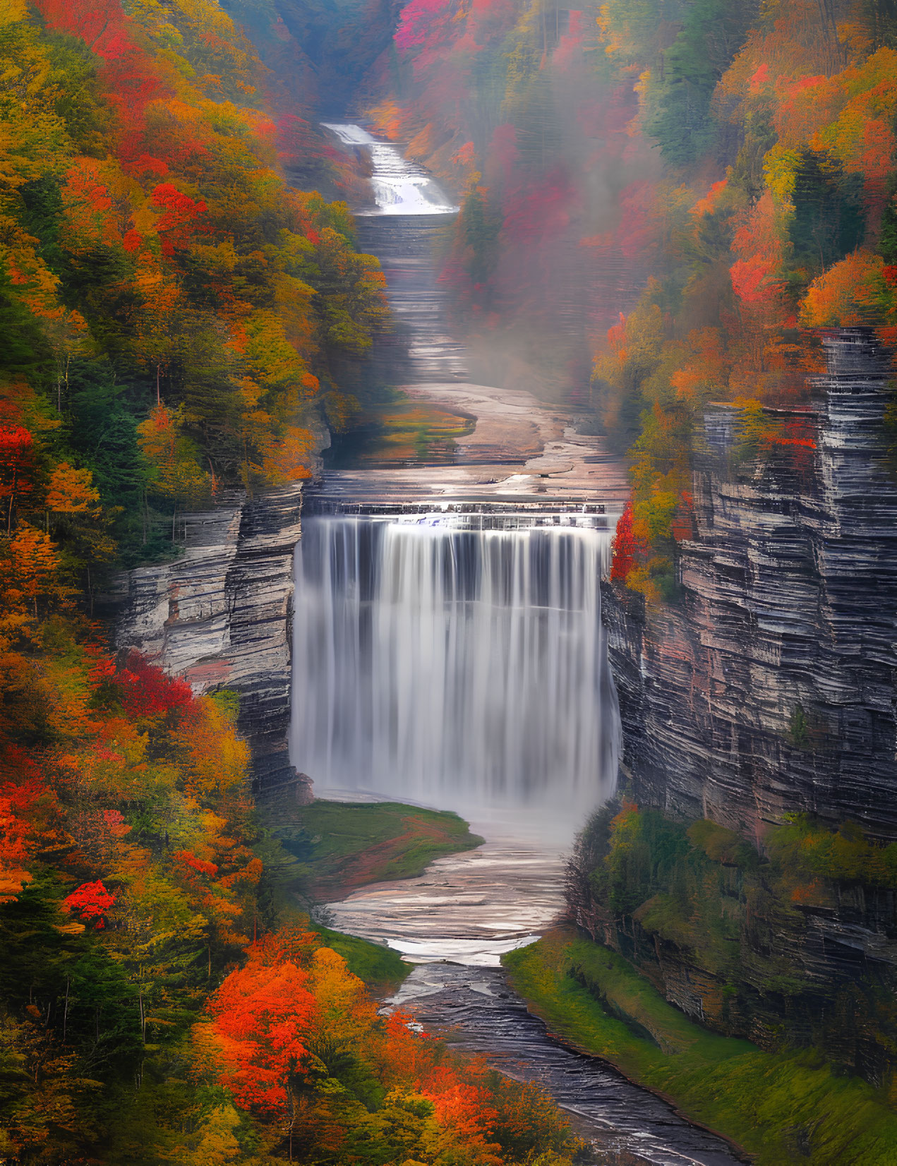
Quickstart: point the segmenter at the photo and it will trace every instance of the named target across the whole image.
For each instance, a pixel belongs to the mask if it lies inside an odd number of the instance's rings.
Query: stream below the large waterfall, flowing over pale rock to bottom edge
[[[661,1098],[555,1040],[512,992],[504,951],[532,942],[563,911],[563,847],[513,816],[471,822],[488,841],[432,863],[414,879],[379,883],[328,905],[338,930],[387,943],[415,967],[387,1007],[449,1044],[541,1084],[608,1163],[731,1166],[741,1159]]]

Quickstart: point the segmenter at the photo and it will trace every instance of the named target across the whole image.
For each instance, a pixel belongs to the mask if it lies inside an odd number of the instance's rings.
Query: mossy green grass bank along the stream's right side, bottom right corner
[[[761,1166],[894,1166],[897,1114],[813,1049],[764,1053],[693,1024],[615,951],[559,928],[503,957],[558,1035],[670,1097]]]

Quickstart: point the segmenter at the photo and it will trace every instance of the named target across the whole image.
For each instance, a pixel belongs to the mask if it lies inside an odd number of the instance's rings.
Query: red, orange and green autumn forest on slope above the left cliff
[[[345,204],[281,177],[292,122],[217,3],[0,21],[6,526],[49,512],[73,559],[131,562],[161,515],[309,476],[383,275]],[[97,494],[77,521],[47,505],[58,466]]]

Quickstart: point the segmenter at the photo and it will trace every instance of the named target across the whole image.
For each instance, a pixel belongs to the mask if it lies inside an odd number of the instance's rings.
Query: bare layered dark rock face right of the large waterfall
[[[755,841],[796,810],[897,838],[892,367],[867,330],[825,344],[817,405],[780,419],[801,437],[740,458],[735,410],[708,414],[681,602],[605,586],[636,800]]]

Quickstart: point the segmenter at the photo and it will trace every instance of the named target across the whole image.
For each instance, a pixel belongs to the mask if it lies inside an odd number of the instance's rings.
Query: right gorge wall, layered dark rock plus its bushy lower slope
[[[764,410],[777,440],[752,440],[736,407],[708,410],[678,602],[604,584],[623,803],[582,835],[568,898],[688,1014],[768,1048],[814,1045],[883,1083],[897,1033],[892,365],[870,330],[825,350],[812,407]]]

